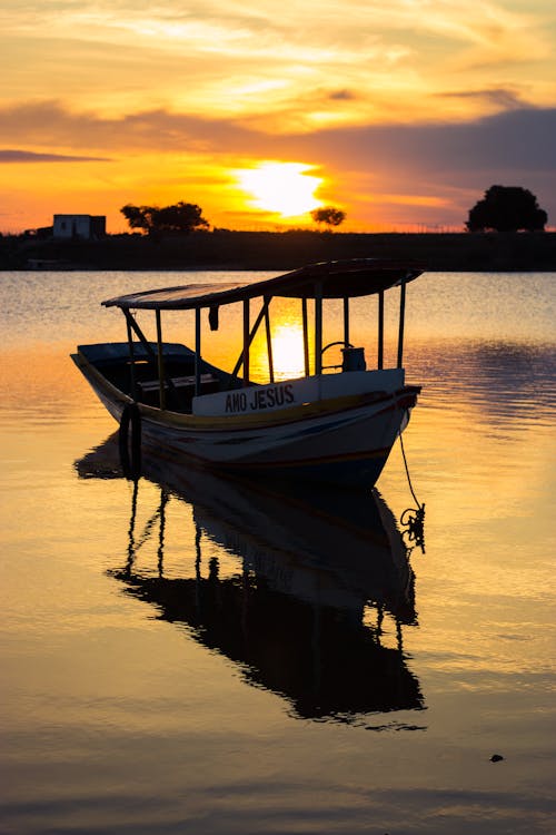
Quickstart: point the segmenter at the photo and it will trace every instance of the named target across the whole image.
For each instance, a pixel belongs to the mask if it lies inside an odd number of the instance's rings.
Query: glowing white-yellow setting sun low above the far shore
[[[240,187],[251,195],[257,208],[295,217],[320,206],[315,191],[322,184],[320,177],[308,175],[311,166],[302,163],[260,163],[255,168],[236,171]]]

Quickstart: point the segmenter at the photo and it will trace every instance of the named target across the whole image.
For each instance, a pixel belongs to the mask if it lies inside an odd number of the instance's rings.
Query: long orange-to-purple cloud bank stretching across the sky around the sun
[[[497,88],[496,95],[503,91]],[[494,88],[486,92],[494,95]],[[199,195],[209,189],[220,200],[229,186],[226,171],[276,159],[314,167],[327,184],[319,196],[345,205],[348,217],[360,217],[361,223],[367,223],[369,206],[375,218],[380,207],[394,206],[388,209],[390,218],[395,212],[404,222],[461,225],[469,207],[494,184],[529,188],[550,222],[556,218],[556,108],[522,107],[456,124],[361,125],[271,135],[234,119],[162,108],[111,118],[71,112],[51,101],[0,109],[0,135],[12,148],[28,148],[29,137],[40,137],[36,149],[0,153],[0,161],[16,161],[14,154],[21,161],[57,166],[95,161],[99,174],[91,188],[102,179],[118,193],[132,195],[158,194],[180,181],[198,188]],[[105,159],[111,160],[110,170],[101,169]],[[147,170],[152,170],[148,187]]]

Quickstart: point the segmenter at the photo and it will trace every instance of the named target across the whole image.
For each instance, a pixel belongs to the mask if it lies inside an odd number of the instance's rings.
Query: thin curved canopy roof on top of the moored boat
[[[369,296],[417,278],[423,272],[418,264],[380,258],[330,261],[295,269],[262,282],[227,284],[188,284],[143,293],[130,293],[109,298],[106,307],[123,310],[182,311],[214,307],[260,296],[288,298],[345,298]]]

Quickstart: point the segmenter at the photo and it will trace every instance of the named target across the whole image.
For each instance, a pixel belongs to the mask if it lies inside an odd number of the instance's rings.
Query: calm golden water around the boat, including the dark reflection
[[[229,277],[0,274],[0,831],[556,832],[556,276],[409,287],[410,568],[399,446],[377,504],[121,478],[68,354],[123,337],[102,298]]]

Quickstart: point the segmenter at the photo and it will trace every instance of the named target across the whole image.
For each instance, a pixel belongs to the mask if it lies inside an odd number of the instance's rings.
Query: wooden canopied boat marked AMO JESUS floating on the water
[[[406,286],[417,264],[356,258],[311,264],[258,282],[189,284],[102,302],[125,316],[127,341],[79,345],[78,369],[120,424],[122,455],[140,469],[141,450],[219,472],[302,480],[353,489],[376,483],[420,392],[403,366]],[[399,292],[397,362],[385,367],[385,294]],[[376,363],[350,342],[350,301],[377,296]],[[299,299],[302,374],[280,379],[272,354],[274,299]],[[324,308],[342,303],[337,338],[324,342]],[[257,312],[254,312],[255,304]],[[231,371],[209,363],[207,330],[240,305],[242,340]],[[155,314],[150,317],[143,312]],[[192,312],[192,347],[162,338],[162,314]],[[208,328],[203,314],[208,314]],[[149,315],[156,338],[139,317]],[[266,332],[267,379],[254,380],[251,346]],[[341,363],[326,365],[336,346]]]

